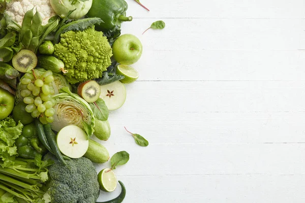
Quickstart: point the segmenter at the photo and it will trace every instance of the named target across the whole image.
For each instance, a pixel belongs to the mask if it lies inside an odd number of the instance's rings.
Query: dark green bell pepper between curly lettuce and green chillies
[[[46,148],[39,142],[34,123],[24,125],[22,133],[16,139],[17,153],[19,156],[34,159],[37,154],[45,154]]]

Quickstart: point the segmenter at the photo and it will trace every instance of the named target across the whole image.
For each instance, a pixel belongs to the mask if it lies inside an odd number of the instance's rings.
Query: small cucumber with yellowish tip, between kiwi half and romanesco
[[[50,70],[54,73],[68,73],[64,67],[65,64],[62,60],[54,56],[39,56],[38,57],[38,66],[43,67],[46,70]]]

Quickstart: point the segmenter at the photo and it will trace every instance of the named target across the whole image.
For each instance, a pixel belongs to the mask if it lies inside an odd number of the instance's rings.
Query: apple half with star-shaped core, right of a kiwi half
[[[100,98],[105,101],[108,110],[116,110],[124,105],[126,100],[126,88],[123,83],[115,81],[100,87]]]

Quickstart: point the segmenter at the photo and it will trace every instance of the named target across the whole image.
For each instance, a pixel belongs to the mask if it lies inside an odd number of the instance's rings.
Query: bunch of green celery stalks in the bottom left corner
[[[45,193],[43,182],[48,179],[47,166],[52,163],[41,161],[41,155],[33,160],[17,157],[14,165],[0,167],[0,190],[24,202],[41,202]]]

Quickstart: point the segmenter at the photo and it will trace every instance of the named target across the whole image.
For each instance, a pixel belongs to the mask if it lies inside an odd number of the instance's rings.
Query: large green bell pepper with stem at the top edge
[[[124,0],[93,0],[92,7],[87,13],[88,17],[101,18],[104,23],[96,25],[95,29],[103,32],[120,28],[124,21],[132,21],[126,16],[128,5]]]

